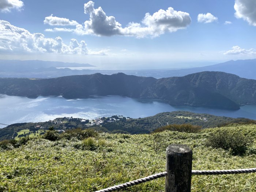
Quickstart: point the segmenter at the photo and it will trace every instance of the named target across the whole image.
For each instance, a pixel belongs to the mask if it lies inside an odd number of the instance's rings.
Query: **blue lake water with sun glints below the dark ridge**
[[[110,117],[112,115],[139,118],[177,110],[209,113],[217,116],[246,117],[256,120],[256,105],[245,105],[239,110],[232,111],[190,106],[170,106],[159,101],[133,99],[117,95],[86,99],[65,99],[63,97],[29,99],[0,94],[0,123],[3,124],[42,122],[53,120],[57,117],[71,116],[85,119]],[[0,125],[0,128],[3,127],[5,126]]]

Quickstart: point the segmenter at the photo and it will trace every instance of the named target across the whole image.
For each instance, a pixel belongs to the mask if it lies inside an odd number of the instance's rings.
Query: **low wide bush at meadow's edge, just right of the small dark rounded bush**
[[[64,133],[61,133],[60,137],[70,140],[71,138],[77,138],[79,140],[83,140],[85,138],[89,137],[97,137],[98,132],[91,130],[91,129],[69,129],[65,131]]]

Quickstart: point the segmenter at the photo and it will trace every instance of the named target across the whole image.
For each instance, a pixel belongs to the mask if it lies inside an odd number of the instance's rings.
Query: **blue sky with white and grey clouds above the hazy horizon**
[[[255,0],[0,0],[0,59],[200,67],[255,59],[255,34]]]

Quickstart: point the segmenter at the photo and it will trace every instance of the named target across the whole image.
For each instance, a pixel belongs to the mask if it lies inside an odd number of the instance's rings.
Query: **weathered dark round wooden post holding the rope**
[[[192,175],[192,150],[182,144],[166,148],[165,192],[190,192]]]

